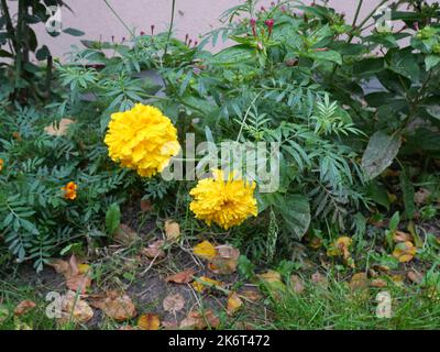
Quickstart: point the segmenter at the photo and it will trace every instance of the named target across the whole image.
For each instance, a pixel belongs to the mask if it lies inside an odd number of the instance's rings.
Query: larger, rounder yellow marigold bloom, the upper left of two
[[[172,121],[142,103],[111,116],[105,142],[112,161],[146,177],[161,173],[180,150]]]

